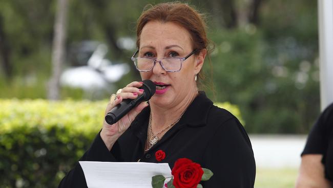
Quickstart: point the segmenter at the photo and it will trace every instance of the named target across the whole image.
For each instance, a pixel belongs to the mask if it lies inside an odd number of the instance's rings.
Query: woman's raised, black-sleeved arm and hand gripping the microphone
[[[110,101],[108,104],[105,115],[112,108],[121,103],[123,99],[135,99],[137,98],[138,93],[142,94],[143,91],[138,88],[141,86],[142,82],[132,82],[122,88],[121,92],[117,94],[118,97],[114,101]],[[136,93],[136,95],[133,95],[133,93]],[[119,161],[119,158],[121,157],[119,144],[117,142],[118,138],[129,128],[141,110],[147,106],[147,102],[140,103],[112,126],[103,120],[103,127],[101,131],[96,136],[88,151],[79,161]],[[86,178],[79,162],[77,162],[75,167],[64,177],[63,180],[61,180],[58,187],[87,187]]]

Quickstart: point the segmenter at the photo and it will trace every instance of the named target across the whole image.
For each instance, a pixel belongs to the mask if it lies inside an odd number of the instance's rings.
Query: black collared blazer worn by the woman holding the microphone
[[[162,149],[171,169],[179,158],[189,158],[214,175],[203,187],[253,187],[256,165],[245,129],[230,112],[213,105],[199,92],[182,118],[146,153],[150,108],[145,108],[131,126],[108,150],[98,134],[80,161],[158,162]],[[59,187],[87,187],[79,163],[61,180]]]

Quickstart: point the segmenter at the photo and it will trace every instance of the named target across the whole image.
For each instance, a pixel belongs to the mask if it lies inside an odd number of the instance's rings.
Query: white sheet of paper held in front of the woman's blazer
[[[152,187],[152,177],[171,177],[168,163],[79,161],[89,188]],[[166,179],[165,182],[170,179]]]

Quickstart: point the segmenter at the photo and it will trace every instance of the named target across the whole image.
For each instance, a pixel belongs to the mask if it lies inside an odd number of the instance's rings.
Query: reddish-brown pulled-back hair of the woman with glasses
[[[209,40],[206,35],[206,24],[204,22],[204,16],[200,14],[196,9],[179,2],[161,3],[157,5],[148,5],[142,12],[137,22],[136,34],[137,41],[136,46],[140,47],[140,34],[148,22],[159,21],[162,23],[172,22],[186,29],[193,42],[193,49],[198,49],[196,54],[199,54],[200,50],[207,49],[207,55],[209,54]],[[208,57],[209,58],[209,57]],[[203,79],[203,74],[199,73],[199,79]]]

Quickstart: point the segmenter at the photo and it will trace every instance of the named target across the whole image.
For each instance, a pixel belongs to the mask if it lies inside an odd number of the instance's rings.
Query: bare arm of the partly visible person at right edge
[[[296,188],[330,188],[331,183],[324,176],[323,155],[306,154],[302,156]]]

